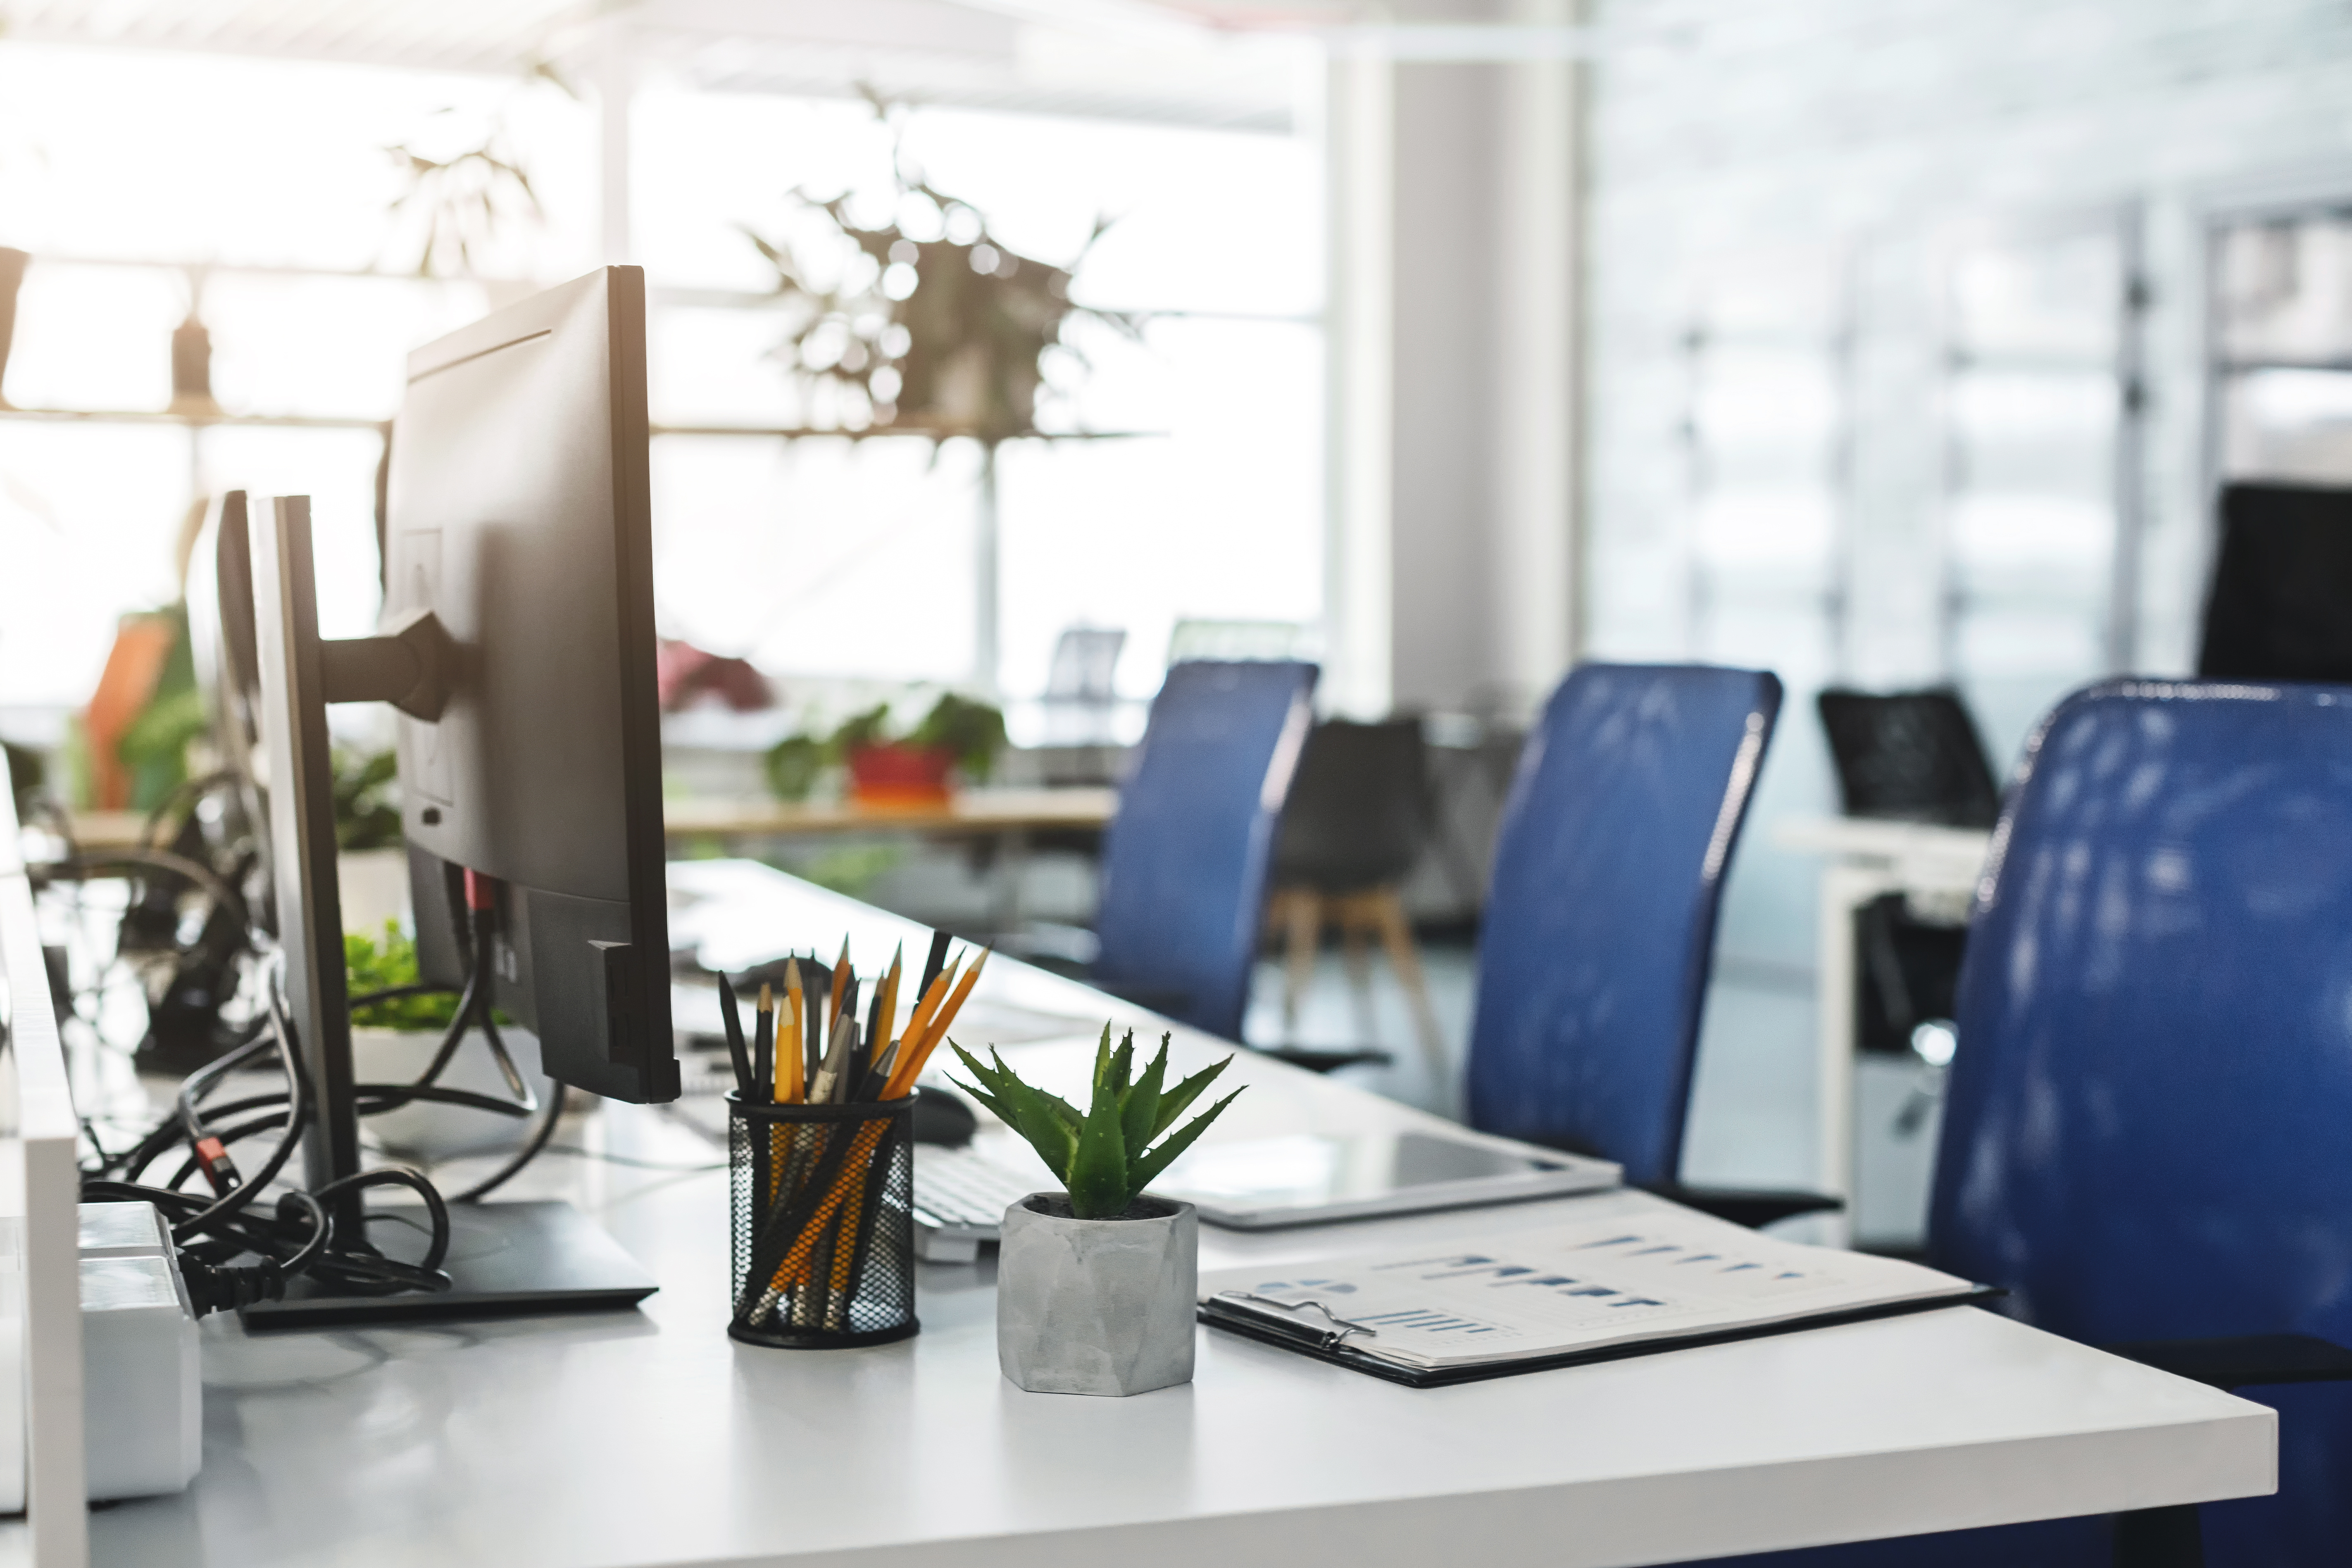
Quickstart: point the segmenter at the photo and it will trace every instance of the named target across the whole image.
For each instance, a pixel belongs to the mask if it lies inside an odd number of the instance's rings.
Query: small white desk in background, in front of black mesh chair
[[[1813,1187],[1853,1197],[1853,912],[1884,893],[1940,900],[1964,917],[1992,835],[1978,827],[1804,816],[1773,825],[1773,844],[1823,856],[1816,954]],[[1844,1234],[1839,1222],[1830,1229]]]

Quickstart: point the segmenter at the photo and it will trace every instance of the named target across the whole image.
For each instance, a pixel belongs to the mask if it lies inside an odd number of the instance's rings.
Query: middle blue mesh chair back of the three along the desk
[[[1479,926],[1470,1121],[1679,1175],[1715,907],[1780,682],[1583,665],[1512,778]]]

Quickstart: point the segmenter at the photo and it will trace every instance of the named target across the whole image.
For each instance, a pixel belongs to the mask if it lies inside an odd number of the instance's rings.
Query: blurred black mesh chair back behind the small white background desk
[[[2002,792],[1976,719],[1950,686],[1842,691],[1818,698],[1846,816],[1992,827]]]

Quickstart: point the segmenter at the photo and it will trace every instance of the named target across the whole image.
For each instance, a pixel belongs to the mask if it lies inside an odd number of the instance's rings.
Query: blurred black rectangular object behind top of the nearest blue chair
[[[2352,682],[2352,489],[2223,489],[2197,675]]]

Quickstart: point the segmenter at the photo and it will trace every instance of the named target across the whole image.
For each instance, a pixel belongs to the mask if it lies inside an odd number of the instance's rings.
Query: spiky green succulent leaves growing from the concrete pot
[[[955,1046],[955,1041],[948,1044]],[[1242,1093],[1235,1088],[1192,1117],[1183,1131],[1169,1133],[1152,1147],[1152,1138],[1176,1126],[1176,1117],[1216,1081],[1216,1074],[1232,1065],[1230,1056],[1214,1067],[1202,1067],[1174,1088],[1164,1088],[1169,1037],[1160,1037],[1160,1056],[1143,1070],[1143,1077],[1134,1077],[1136,1032],[1129,1030],[1120,1048],[1112,1051],[1105,1023],[1103,1039],[1094,1051],[1094,1100],[1082,1117],[1068,1100],[1023,1084],[997,1051],[988,1053],[993,1065],[978,1063],[962,1046],[955,1046],[955,1053],[964,1060],[964,1072],[981,1084],[978,1088],[957,1084],[957,1088],[1028,1138],[1037,1159],[1061,1178],[1070,1194],[1070,1213],[1080,1220],[1129,1218],[1127,1211],[1136,1197],[1169,1168],[1169,1161],[1192,1147],[1192,1140]]]

